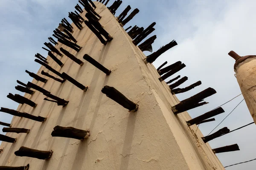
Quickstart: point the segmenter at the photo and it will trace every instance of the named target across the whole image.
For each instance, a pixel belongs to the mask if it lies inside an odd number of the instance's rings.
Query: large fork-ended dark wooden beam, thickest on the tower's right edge
[[[212,96],[217,93],[213,88],[207,88],[200,93],[181,101],[179,104],[172,107],[174,114],[182,113],[193,108],[197,108],[202,105],[208,104],[207,102],[202,102],[205,98]],[[201,103],[200,103],[201,102]]]

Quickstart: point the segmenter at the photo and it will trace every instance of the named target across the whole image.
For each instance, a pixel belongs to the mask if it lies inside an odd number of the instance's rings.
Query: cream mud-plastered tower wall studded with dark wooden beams
[[[73,26],[73,35],[78,45],[83,46],[79,53],[60,44],[57,48],[63,46],[82,61],[84,54],[89,54],[112,73],[106,76],[88,62],[80,67],[66,56],[61,58],[62,68],[48,59],[49,65],[89,86],[89,90],[83,92],[68,81],[61,84],[49,79],[44,84],[34,79],[33,83],[70,102],[62,108],[44,101],[45,96],[38,91],[32,96],[26,94],[38,106],[19,105],[17,111],[45,116],[47,121],[40,123],[14,117],[13,127],[31,131],[29,134],[7,133],[17,138],[17,142],[1,144],[4,150],[0,164],[22,166],[29,163],[30,170],[224,170],[209,145],[201,140],[200,130],[195,135],[196,126],[187,127],[189,114],[175,116],[172,113],[171,106],[179,101],[172,96],[168,85],[158,80],[160,76],[154,66],[145,65],[142,60],[145,55],[108,9],[101,3],[96,5],[96,11],[102,16],[100,23],[114,39],[102,45],[83,24],[81,31]],[[38,74],[42,70],[48,72],[41,67]],[[105,85],[115,87],[136,102],[139,110],[130,113],[102,94]],[[90,137],[83,142],[52,137],[56,125],[90,130]],[[53,150],[53,155],[47,161],[17,157],[14,152],[21,146]]]

